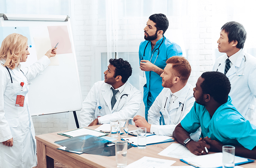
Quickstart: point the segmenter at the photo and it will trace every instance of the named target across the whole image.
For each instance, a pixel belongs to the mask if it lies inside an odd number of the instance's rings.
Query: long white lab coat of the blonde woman
[[[4,63],[5,60],[0,61]],[[36,166],[36,141],[32,118],[29,113],[27,78],[31,79],[50,64],[47,56],[42,57],[30,67],[18,66],[9,69],[0,65],[0,167],[31,168]],[[20,71],[20,69],[24,74]],[[23,88],[20,83],[24,82]],[[26,93],[24,106],[15,106],[17,93]],[[8,147],[2,142],[13,138],[13,146]]]

